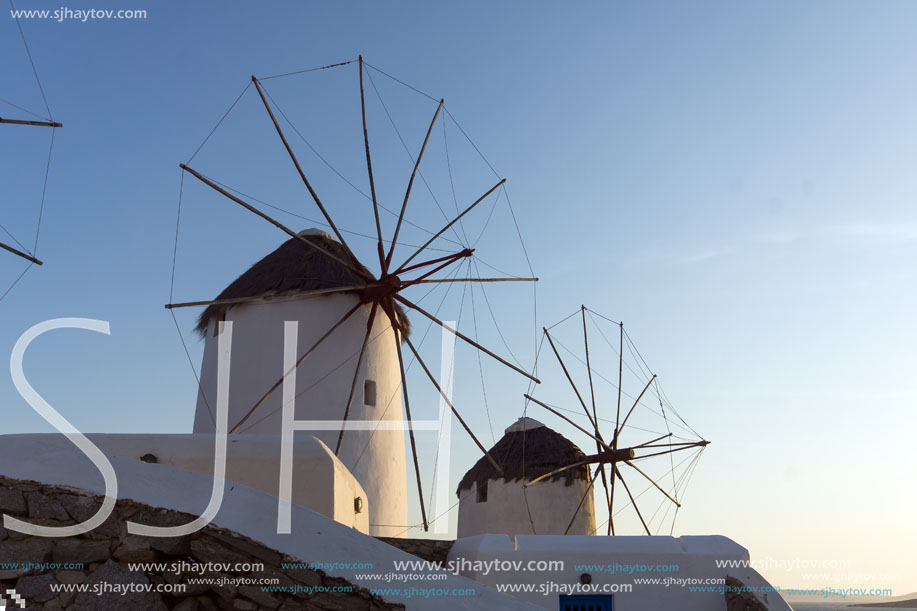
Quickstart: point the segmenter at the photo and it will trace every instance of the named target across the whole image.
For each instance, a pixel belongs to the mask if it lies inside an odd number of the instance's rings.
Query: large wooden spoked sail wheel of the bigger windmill
[[[336,240],[336,243],[331,243],[326,240],[318,239],[314,235],[310,235],[308,232],[296,232],[293,229],[289,228],[276,218],[268,215],[263,211],[263,209],[257,207],[252,203],[254,200],[250,197],[245,197],[241,195],[238,191],[227,187],[226,185],[218,182],[217,180],[211,179],[201,172],[190,166],[190,161],[187,163],[180,164],[180,167],[184,174],[188,174],[194,177],[196,180],[200,181],[204,185],[213,189],[217,193],[223,195],[230,201],[241,206],[248,212],[254,214],[255,216],[261,218],[263,221],[270,223],[277,229],[283,231],[287,234],[295,243],[301,243],[302,246],[306,249],[309,249],[312,252],[318,253],[320,256],[327,257],[328,260],[335,262],[337,265],[341,266],[343,269],[346,269],[349,277],[355,279],[353,282],[342,285],[334,286],[327,288],[320,288],[316,290],[308,290],[301,292],[286,292],[283,294],[284,298],[312,298],[322,295],[329,295],[332,293],[351,293],[358,296],[358,303],[356,303],[349,311],[343,314],[333,324],[331,324],[327,331],[323,333],[317,341],[315,341],[308,349],[306,349],[301,356],[297,359],[295,367],[299,367],[303,362],[305,362],[310,355],[316,353],[316,350],[324,342],[328,341],[329,338],[333,336],[335,331],[339,329],[344,323],[350,319],[361,307],[369,308],[368,322],[366,325],[366,332],[363,336],[362,347],[359,352],[359,356],[356,360],[356,368],[353,374],[353,382],[350,384],[350,391],[346,400],[344,397],[341,397],[342,402],[342,420],[344,425],[341,427],[340,433],[337,437],[337,444],[334,448],[336,454],[340,454],[341,446],[344,441],[344,433],[347,429],[346,421],[351,414],[351,406],[354,404],[354,397],[358,388],[359,375],[361,370],[361,365],[364,360],[364,356],[367,352],[367,346],[371,341],[372,329],[374,321],[379,317],[386,317],[391,324],[392,329],[394,330],[395,335],[395,344],[397,347],[398,355],[398,365],[400,369],[401,376],[401,388],[400,391],[403,396],[403,404],[405,410],[405,419],[408,424],[408,433],[411,444],[411,451],[413,455],[414,462],[414,472],[417,480],[417,492],[420,500],[420,511],[423,521],[423,527],[425,530],[428,529],[428,519],[426,513],[426,507],[424,505],[423,490],[421,485],[421,475],[420,475],[420,465],[417,458],[417,449],[414,439],[414,427],[412,424],[412,415],[411,415],[411,406],[409,401],[408,393],[408,383],[407,375],[405,368],[405,358],[402,353],[402,346],[407,346],[410,353],[413,355],[417,363],[420,364],[425,377],[429,380],[432,386],[436,389],[439,396],[442,398],[442,401],[448,405],[448,408],[455,415],[458,422],[462,425],[480,451],[488,458],[488,460],[493,464],[493,466],[502,472],[500,466],[494,460],[492,456],[488,453],[485,446],[481,443],[478,437],[471,430],[471,427],[465,421],[465,419],[460,414],[459,410],[455,407],[452,400],[449,398],[446,392],[444,392],[440,383],[437,381],[436,377],[431,372],[430,368],[421,357],[421,354],[412,341],[408,329],[406,328],[406,321],[403,318],[402,310],[408,312],[414,312],[417,315],[420,315],[432,323],[438,325],[445,331],[453,334],[458,339],[462,340],[465,344],[471,346],[475,350],[480,351],[483,354],[494,359],[496,362],[502,364],[503,366],[508,367],[512,371],[525,376],[531,381],[537,383],[538,379],[535,378],[532,374],[525,371],[521,366],[511,363],[509,360],[497,355],[495,352],[485,348],[475,339],[461,333],[458,329],[453,328],[449,324],[440,320],[434,313],[429,312],[427,309],[418,305],[418,303],[409,298],[406,295],[406,291],[412,287],[419,287],[422,285],[431,285],[437,283],[493,283],[493,282],[535,282],[537,278],[534,277],[516,277],[516,276],[501,276],[501,277],[454,277],[453,275],[444,276],[443,274],[449,270],[455,271],[457,264],[460,262],[469,259],[474,254],[474,248],[468,244],[463,244],[463,248],[457,249],[453,252],[450,252],[444,256],[436,256],[433,258],[430,257],[428,253],[432,250],[431,245],[433,245],[446,231],[449,231],[457,223],[460,223],[463,218],[466,217],[472,210],[477,208],[482,202],[490,198],[492,195],[498,192],[505,183],[505,179],[500,179],[492,187],[487,189],[483,194],[474,199],[469,205],[467,205],[463,210],[461,210],[456,216],[448,220],[438,231],[430,232],[431,237],[427,239],[422,245],[416,247],[413,252],[406,256],[400,263],[395,262],[395,251],[396,246],[399,245],[399,238],[402,233],[403,225],[407,222],[405,218],[405,213],[408,210],[412,188],[415,183],[415,179],[420,175],[420,166],[424,158],[424,152],[427,150],[427,145],[430,141],[431,134],[433,133],[434,126],[437,123],[437,120],[443,115],[444,112],[444,101],[442,99],[438,100],[436,109],[433,113],[433,118],[430,121],[429,127],[426,130],[426,135],[424,137],[423,143],[420,146],[419,152],[417,153],[416,159],[413,163],[413,170],[407,182],[407,188],[404,192],[403,200],[401,201],[400,210],[397,213],[397,223],[395,224],[394,231],[390,239],[386,240],[383,233],[383,225],[380,220],[380,207],[379,198],[376,194],[376,183],[373,172],[373,163],[372,155],[370,152],[370,141],[369,141],[369,131],[367,128],[367,118],[366,118],[366,99],[364,94],[363,79],[366,72],[366,67],[363,62],[363,58],[360,57],[358,60],[352,60],[348,62],[342,62],[339,64],[334,64],[332,66],[325,66],[323,68],[335,68],[340,66],[345,66],[352,63],[358,63],[359,67],[359,85],[360,85],[360,105],[361,105],[361,120],[363,127],[363,155],[365,156],[366,163],[366,172],[368,176],[369,191],[371,193],[371,202],[372,202],[372,211],[373,211],[373,221],[375,225],[375,242],[376,242],[376,257],[378,258],[378,273],[373,273],[360,262],[357,257],[354,255],[354,251],[350,248],[347,243],[347,240],[344,237],[346,231],[342,230],[339,225],[332,218],[327,207],[323,203],[322,199],[319,197],[316,189],[313,187],[312,182],[307,177],[306,170],[304,169],[303,164],[300,163],[297,158],[293,147],[290,144],[290,141],[287,138],[284,128],[281,126],[281,122],[278,120],[278,114],[290,124],[294,132],[302,138],[301,133],[295,127],[292,126],[292,123],[289,122],[286,115],[279,109],[276,103],[271,98],[270,94],[267,92],[264,80],[267,78],[278,78],[278,77],[265,77],[259,79],[255,76],[252,76],[251,83],[243,90],[239,98],[236,99],[236,102],[241,99],[241,97],[248,91],[249,87],[253,86],[254,90],[257,92],[258,99],[261,102],[261,105],[264,106],[264,110],[270,119],[270,122],[276,131],[277,137],[279,138],[280,144],[285,150],[287,156],[290,159],[290,162],[293,165],[299,179],[301,180],[306,191],[308,191],[308,197],[315,204],[316,208],[321,213],[324,218],[324,222],[327,224],[327,227],[330,228],[333,238]],[[368,65],[368,64],[367,64]],[[378,69],[376,69],[378,70]],[[310,70],[301,71],[309,72]],[[301,72],[292,73],[300,74]],[[379,71],[381,72],[381,71]],[[383,73],[385,74],[385,73]],[[278,75],[278,76],[288,76],[288,75]],[[386,76],[388,76],[386,74]],[[429,97],[429,96],[428,96]],[[233,104],[233,107],[235,103]],[[230,107],[230,111],[233,107]],[[448,111],[445,111],[448,112]],[[228,115],[229,111],[227,111]],[[224,115],[225,119],[226,115]],[[222,123],[222,119],[220,121]],[[217,124],[219,127],[219,123]],[[216,128],[215,128],[216,129]],[[211,132],[212,135],[213,132]],[[208,136],[209,138],[209,136]],[[304,140],[304,138],[302,138]],[[206,143],[206,140],[205,140]],[[308,142],[307,142],[308,144]],[[201,145],[203,146],[203,144]],[[311,146],[311,145],[310,145]],[[200,150],[200,148],[198,149]],[[196,153],[195,153],[196,154]],[[194,156],[192,156],[193,159]],[[184,175],[183,174],[183,175]],[[180,208],[179,208],[180,210]],[[177,235],[177,234],[176,234]],[[389,245],[386,247],[386,242]],[[333,244],[333,245],[332,245]],[[173,263],[174,264],[174,263]],[[182,302],[182,303],[169,303],[165,307],[172,310],[175,308],[184,308],[184,307],[206,307],[214,305],[235,305],[242,303],[249,303],[255,301],[264,301],[267,299],[274,299],[277,295],[273,296],[253,296],[253,297],[243,297],[243,298],[234,298],[231,300],[198,300],[191,302]],[[294,367],[294,369],[295,369]],[[238,422],[231,426],[230,433],[240,432],[243,425],[260,409],[267,399],[274,393],[278,388],[283,384],[284,378],[289,375],[289,372],[283,377],[278,379],[276,383],[271,385],[269,388],[265,389],[264,394],[261,396],[260,400],[255,402],[251,409],[242,417]]]

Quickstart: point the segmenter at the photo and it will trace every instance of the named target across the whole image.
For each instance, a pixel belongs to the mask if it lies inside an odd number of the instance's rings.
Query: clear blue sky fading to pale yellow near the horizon
[[[17,8],[60,5],[20,0]],[[530,367],[534,329],[581,304],[623,320],[679,413],[711,440],[676,534],[729,536],[770,563],[762,572],[785,587],[917,590],[913,3],[118,0],[68,8],[147,11],[134,20],[21,20],[64,127],[42,211],[45,265],[0,301],[0,350],[51,318],[110,321],[110,336],[60,331],[26,358],[33,385],[80,430],[190,430],[195,382],[162,307],[180,185],[176,301],[216,294],[284,236],[193,179],[182,184],[178,164],[252,74],[362,54],[446,99],[446,140],[437,133],[424,166],[437,201],[454,210],[492,186],[494,173],[507,179],[493,226],[482,214],[473,221],[486,229],[476,254],[527,276],[527,253],[540,281],[534,292],[488,289],[506,345],[484,323],[482,339]],[[0,19],[0,54],[0,98],[45,114],[9,15]],[[385,112],[416,154],[436,103],[370,74],[388,104],[367,92],[374,167],[397,207],[411,162]],[[349,64],[266,83],[291,122],[365,191],[356,78]],[[4,117],[19,112],[0,108]],[[31,248],[49,132],[3,127],[0,222]],[[192,165],[316,219],[270,130],[249,89]],[[372,228],[357,189],[296,146],[341,225]],[[436,202],[419,187],[415,196],[413,218],[435,225]],[[25,265],[11,256],[0,265],[5,290]],[[443,316],[469,329],[457,310],[468,300],[446,301]],[[194,315],[177,320],[197,365]],[[521,415],[527,385],[492,363],[487,374],[489,415],[469,396],[470,420],[499,438]],[[457,386],[479,384],[478,376],[476,360],[457,362]],[[0,405],[4,432],[51,430],[8,376]],[[435,412],[435,397],[429,405]],[[530,415],[581,447],[591,443],[550,414]],[[455,443],[457,481],[477,455],[467,440]]]

